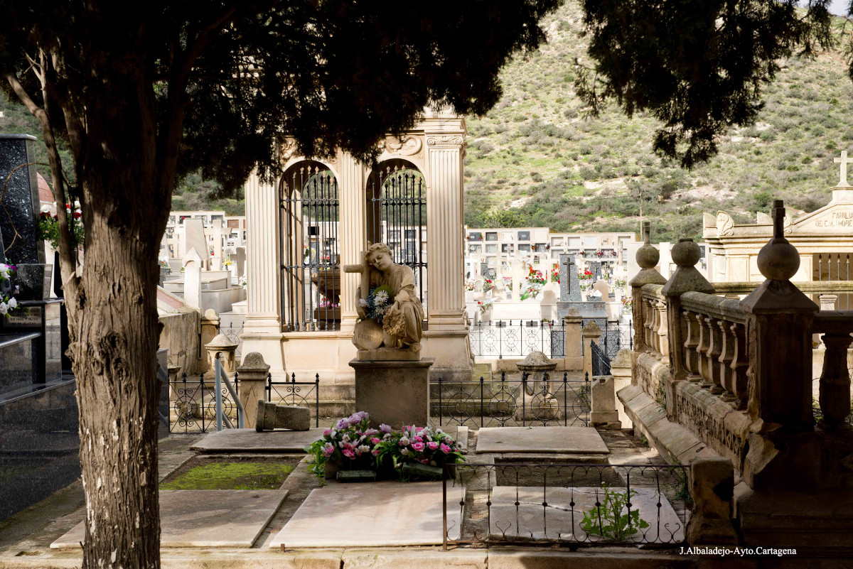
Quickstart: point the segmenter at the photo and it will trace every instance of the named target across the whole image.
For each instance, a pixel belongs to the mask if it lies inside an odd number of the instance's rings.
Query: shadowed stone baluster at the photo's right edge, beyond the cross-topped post
[[[821,372],[821,424],[835,427],[850,415],[850,371],[847,370],[847,348],[853,342],[850,334],[824,334],[827,347]]]

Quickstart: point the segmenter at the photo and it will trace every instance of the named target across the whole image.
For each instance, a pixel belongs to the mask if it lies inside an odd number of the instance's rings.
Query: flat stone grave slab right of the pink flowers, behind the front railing
[[[601,434],[590,427],[486,427],[479,429],[477,452],[606,454],[609,451]]]

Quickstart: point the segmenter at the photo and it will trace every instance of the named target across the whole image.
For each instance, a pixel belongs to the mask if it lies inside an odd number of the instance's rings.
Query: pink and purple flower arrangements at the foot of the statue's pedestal
[[[336,422],[305,451],[313,457],[310,472],[321,480],[326,477],[327,466],[335,470],[375,469],[403,480],[405,463],[444,467],[464,460],[460,446],[440,428],[412,425],[394,431],[386,424],[370,428],[365,411]]]

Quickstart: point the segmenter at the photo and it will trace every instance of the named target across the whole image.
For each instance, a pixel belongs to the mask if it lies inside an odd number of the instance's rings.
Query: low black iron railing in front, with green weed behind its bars
[[[443,476],[444,546],[682,544],[692,505],[689,469],[682,464],[455,464]]]

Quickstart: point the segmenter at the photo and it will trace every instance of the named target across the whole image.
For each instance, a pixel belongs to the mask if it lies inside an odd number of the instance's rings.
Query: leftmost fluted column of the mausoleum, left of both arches
[[[278,191],[252,173],[246,182],[247,333],[281,332]]]

